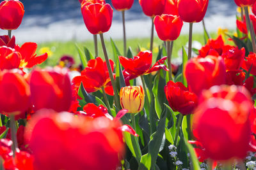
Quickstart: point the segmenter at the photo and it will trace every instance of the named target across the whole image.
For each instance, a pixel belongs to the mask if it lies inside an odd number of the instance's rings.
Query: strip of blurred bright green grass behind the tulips
[[[216,34],[211,34],[212,38],[216,38]],[[118,47],[120,53],[123,52],[123,41],[122,39],[114,39],[116,46]],[[193,34],[193,41],[198,41],[202,45],[205,44],[204,36],[202,34]],[[141,46],[141,50],[148,50],[149,49],[149,38],[133,38],[133,39],[127,39],[127,46],[131,46],[132,52],[134,55],[138,53],[138,45]],[[185,46],[188,42],[188,35],[180,35],[177,40],[174,41],[173,45],[173,54],[172,57],[178,57],[178,52],[182,48],[182,46]],[[109,58],[113,58],[113,51],[110,44],[110,39],[105,39],[106,47],[108,50]],[[70,55],[74,57],[76,64],[80,64],[79,55],[77,53],[76,45],[79,46],[79,48],[83,49],[83,46],[86,46],[90,52],[94,55],[94,45],[93,41],[84,41],[84,42],[76,42],[76,41],[67,41],[67,42],[61,42],[61,41],[51,41],[47,43],[40,43],[38,44],[38,50],[37,54],[44,52],[50,52],[51,56],[43,63],[44,66],[56,66],[58,64],[58,60],[63,55]],[[163,41],[161,39],[155,37],[154,38],[154,50],[153,55],[156,57],[158,52],[158,46],[163,45]],[[99,57],[104,58],[103,52],[102,52],[102,46],[100,44],[100,39],[98,38],[98,48],[99,48]]]

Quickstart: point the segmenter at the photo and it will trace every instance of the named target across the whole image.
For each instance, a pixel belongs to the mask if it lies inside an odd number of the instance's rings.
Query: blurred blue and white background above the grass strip
[[[22,1],[22,0],[20,0]],[[106,0],[111,4],[110,0]],[[81,15],[78,0],[23,0],[25,14],[19,29],[13,31],[18,42],[24,41],[85,41],[92,39],[87,31]],[[234,0],[210,0],[205,17],[205,24],[210,32],[218,27],[235,29],[236,4]],[[141,10],[138,0],[134,0],[131,10],[126,12],[127,37],[149,37],[150,18]],[[194,24],[194,31],[201,32],[202,24]],[[188,32],[188,24],[184,25],[182,34]],[[1,34],[5,34],[1,31]],[[113,24],[106,36],[114,39],[122,38],[121,13],[114,9]]]

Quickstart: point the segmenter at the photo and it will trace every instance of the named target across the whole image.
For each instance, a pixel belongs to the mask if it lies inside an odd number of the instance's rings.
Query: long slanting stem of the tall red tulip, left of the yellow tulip
[[[101,44],[102,44],[106,64],[107,64],[107,67],[108,67],[109,78],[111,80],[111,84],[112,84],[112,87],[113,87],[113,90],[114,90],[115,105],[116,105],[117,109],[120,110],[120,103],[119,103],[118,91],[117,91],[117,88],[116,88],[116,82],[115,82],[113,72],[112,72],[112,69],[111,69],[111,66],[110,66],[110,62],[109,62],[108,53],[107,53],[107,50],[106,50],[106,45],[105,45],[105,42],[104,42],[103,34],[100,34],[100,40],[101,40]]]

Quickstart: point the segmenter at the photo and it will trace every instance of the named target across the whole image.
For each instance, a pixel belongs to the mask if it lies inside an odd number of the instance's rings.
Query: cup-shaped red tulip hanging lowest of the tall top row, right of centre
[[[154,24],[161,40],[173,41],[179,37],[183,22],[180,17],[163,14],[155,17]]]

